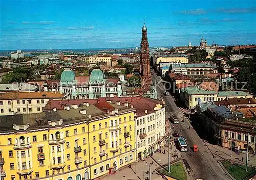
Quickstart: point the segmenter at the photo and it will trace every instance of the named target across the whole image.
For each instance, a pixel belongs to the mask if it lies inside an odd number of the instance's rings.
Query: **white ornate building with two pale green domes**
[[[79,79],[79,77],[81,77]],[[68,94],[68,99],[97,99],[100,97],[126,97],[143,95],[145,97],[157,98],[156,88],[152,85],[150,90],[143,94],[127,90],[124,75],[118,79],[105,79],[100,69],[93,69],[90,76],[76,77],[73,70],[67,68],[60,76],[57,89],[61,94]],[[82,79],[82,80],[81,80]],[[53,86],[45,87],[45,91],[55,91]]]

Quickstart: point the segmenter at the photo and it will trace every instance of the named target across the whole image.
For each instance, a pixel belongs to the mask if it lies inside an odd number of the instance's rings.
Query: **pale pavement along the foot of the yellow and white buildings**
[[[163,154],[163,150],[165,149],[165,154]],[[116,174],[113,175],[103,175],[100,177],[101,180],[127,180],[127,179],[145,179],[148,177],[148,174],[146,173],[149,170],[149,166],[151,166],[151,179],[156,179],[161,177],[158,173],[156,173],[156,168],[158,168],[161,165],[168,163],[168,147],[162,147],[162,151],[156,152],[153,154],[152,157],[148,157],[145,159],[145,161],[139,161],[137,163],[132,164],[132,168],[124,167],[122,169],[119,169]],[[176,149],[174,145],[172,145],[172,150],[170,150],[170,153],[174,152],[178,153],[178,157],[180,158],[180,152]],[[170,156],[170,162],[174,161],[175,159]],[[152,164],[153,162],[153,164]],[[155,173],[153,173],[155,171]]]

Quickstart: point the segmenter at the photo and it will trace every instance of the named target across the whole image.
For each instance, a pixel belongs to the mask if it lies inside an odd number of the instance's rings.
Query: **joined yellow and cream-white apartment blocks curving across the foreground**
[[[38,100],[25,103],[32,109],[44,106],[40,113],[0,117],[2,179],[88,180],[113,174],[154,153],[165,135],[163,101],[50,99],[43,105]]]

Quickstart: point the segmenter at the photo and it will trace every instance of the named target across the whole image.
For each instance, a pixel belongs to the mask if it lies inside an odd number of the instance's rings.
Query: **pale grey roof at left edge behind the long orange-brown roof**
[[[28,83],[0,84],[0,92],[6,91],[38,91],[37,86]]]

